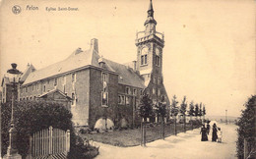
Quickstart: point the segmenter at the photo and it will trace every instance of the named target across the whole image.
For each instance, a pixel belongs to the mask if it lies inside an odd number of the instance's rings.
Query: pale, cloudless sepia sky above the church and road
[[[98,39],[99,54],[136,59],[136,31],[144,30],[150,0],[2,0],[0,78],[11,63],[24,71],[66,59]],[[12,7],[22,9],[13,14]],[[29,10],[37,7],[38,10]],[[46,8],[78,8],[47,11]],[[204,103],[207,115],[239,116],[255,94],[253,0],[153,0],[157,31],[164,32],[163,83],[169,99]]]

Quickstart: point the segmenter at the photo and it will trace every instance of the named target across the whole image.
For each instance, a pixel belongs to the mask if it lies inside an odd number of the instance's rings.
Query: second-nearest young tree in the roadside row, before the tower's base
[[[166,104],[164,102],[164,96],[162,96],[161,101],[156,104],[157,113],[161,117],[161,137],[164,139],[164,117],[166,117]]]

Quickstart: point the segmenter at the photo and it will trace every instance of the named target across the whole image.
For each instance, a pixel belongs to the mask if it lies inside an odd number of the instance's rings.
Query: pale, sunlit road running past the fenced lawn
[[[200,129],[181,132],[147,143],[147,147],[116,147],[96,142],[99,155],[96,159],[232,159],[235,157],[236,126],[218,124],[223,131],[223,143],[201,141]],[[212,138],[211,135],[208,136]]]

